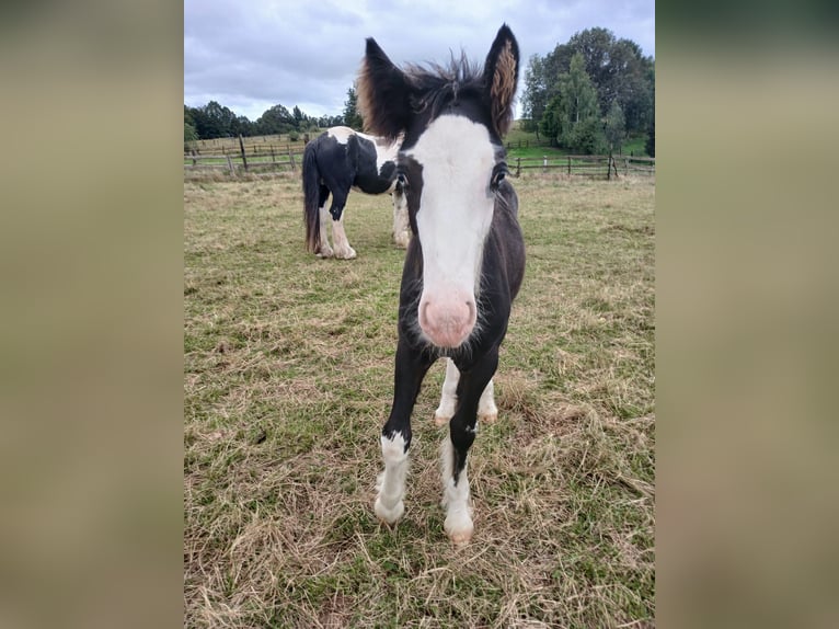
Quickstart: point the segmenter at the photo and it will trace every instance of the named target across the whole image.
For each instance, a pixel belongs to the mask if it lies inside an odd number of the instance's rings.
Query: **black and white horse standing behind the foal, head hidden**
[[[402,185],[395,176],[396,138],[383,140],[349,127],[332,127],[306,145],[303,151],[303,220],[306,244],[321,258],[356,256],[344,231],[344,207],[349,188],[367,194],[391,193],[393,239],[406,248],[411,238]],[[326,214],[326,201],[332,205]],[[332,220],[330,220],[330,217]],[[326,225],[332,224],[332,247]]]

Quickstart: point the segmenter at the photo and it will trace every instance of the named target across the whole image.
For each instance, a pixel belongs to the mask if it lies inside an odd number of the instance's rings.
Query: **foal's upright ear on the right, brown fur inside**
[[[495,36],[484,64],[484,85],[492,103],[492,123],[499,137],[513,122],[513,99],[518,84],[518,43],[504,24]]]

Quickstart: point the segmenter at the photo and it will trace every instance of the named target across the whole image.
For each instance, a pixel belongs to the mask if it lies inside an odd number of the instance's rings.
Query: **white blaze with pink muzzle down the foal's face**
[[[435,119],[407,155],[423,167],[416,224],[423,242],[420,328],[432,343],[457,347],[474,328],[483,242],[492,224],[495,149],[483,125]]]

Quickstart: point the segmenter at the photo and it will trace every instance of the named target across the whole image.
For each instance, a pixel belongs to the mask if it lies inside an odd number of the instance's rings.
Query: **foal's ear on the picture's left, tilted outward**
[[[357,96],[366,130],[395,139],[407,127],[411,85],[372,37],[367,38],[367,52],[358,71]]]

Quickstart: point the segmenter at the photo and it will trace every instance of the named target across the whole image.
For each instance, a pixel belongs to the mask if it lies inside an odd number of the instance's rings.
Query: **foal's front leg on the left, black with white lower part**
[[[376,484],[376,515],[388,524],[394,524],[405,512],[402,496],[405,493],[407,449],[411,446],[411,411],[432,362],[426,353],[415,352],[400,340],[393,377],[393,405],[381,430],[384,471],[379,474]]]

